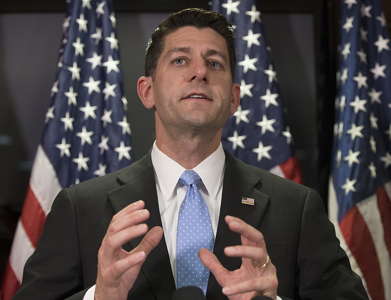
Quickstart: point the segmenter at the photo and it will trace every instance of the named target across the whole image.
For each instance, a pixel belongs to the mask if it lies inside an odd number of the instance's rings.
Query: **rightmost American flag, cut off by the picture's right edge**
[[[369,297],[391,300],[391,50],[381,0],[341,3],[329,217]]]

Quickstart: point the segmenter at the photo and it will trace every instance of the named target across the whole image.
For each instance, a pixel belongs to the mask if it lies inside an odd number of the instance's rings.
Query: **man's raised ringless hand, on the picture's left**
[[[143,223],[150,217],[145,203],[137,201],[115,214],[98,252],[98,277],[95,300],[125,300],[147,255],[163,236],[161,227],[148,231]],[[141,243],[130,252],[122,245],[144,235]]]

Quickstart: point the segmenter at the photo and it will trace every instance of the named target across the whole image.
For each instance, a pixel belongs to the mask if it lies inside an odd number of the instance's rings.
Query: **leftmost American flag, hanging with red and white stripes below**
[[[1,299],[22,282],[46,215],[64,187],[133,162],[111,0],[70,0],[41,143],[4,273]]]

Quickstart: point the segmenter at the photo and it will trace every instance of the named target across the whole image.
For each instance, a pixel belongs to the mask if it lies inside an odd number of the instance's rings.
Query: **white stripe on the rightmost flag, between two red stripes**
[[[384,239],[384,228],[376,194],[360,201],[357,208],[372,237],[375,251],[380,265],[380,273],[383,280],[384,295],[386,300],[391,300],[391,260],[386,241]]]

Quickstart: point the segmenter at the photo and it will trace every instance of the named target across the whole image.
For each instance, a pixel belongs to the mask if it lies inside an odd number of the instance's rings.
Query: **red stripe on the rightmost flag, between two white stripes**
[[[367,224],[357,207],[350,209],[339,225],[346,243],[367,281],[369,295],[372,299],[384,300],[379,260]]]

